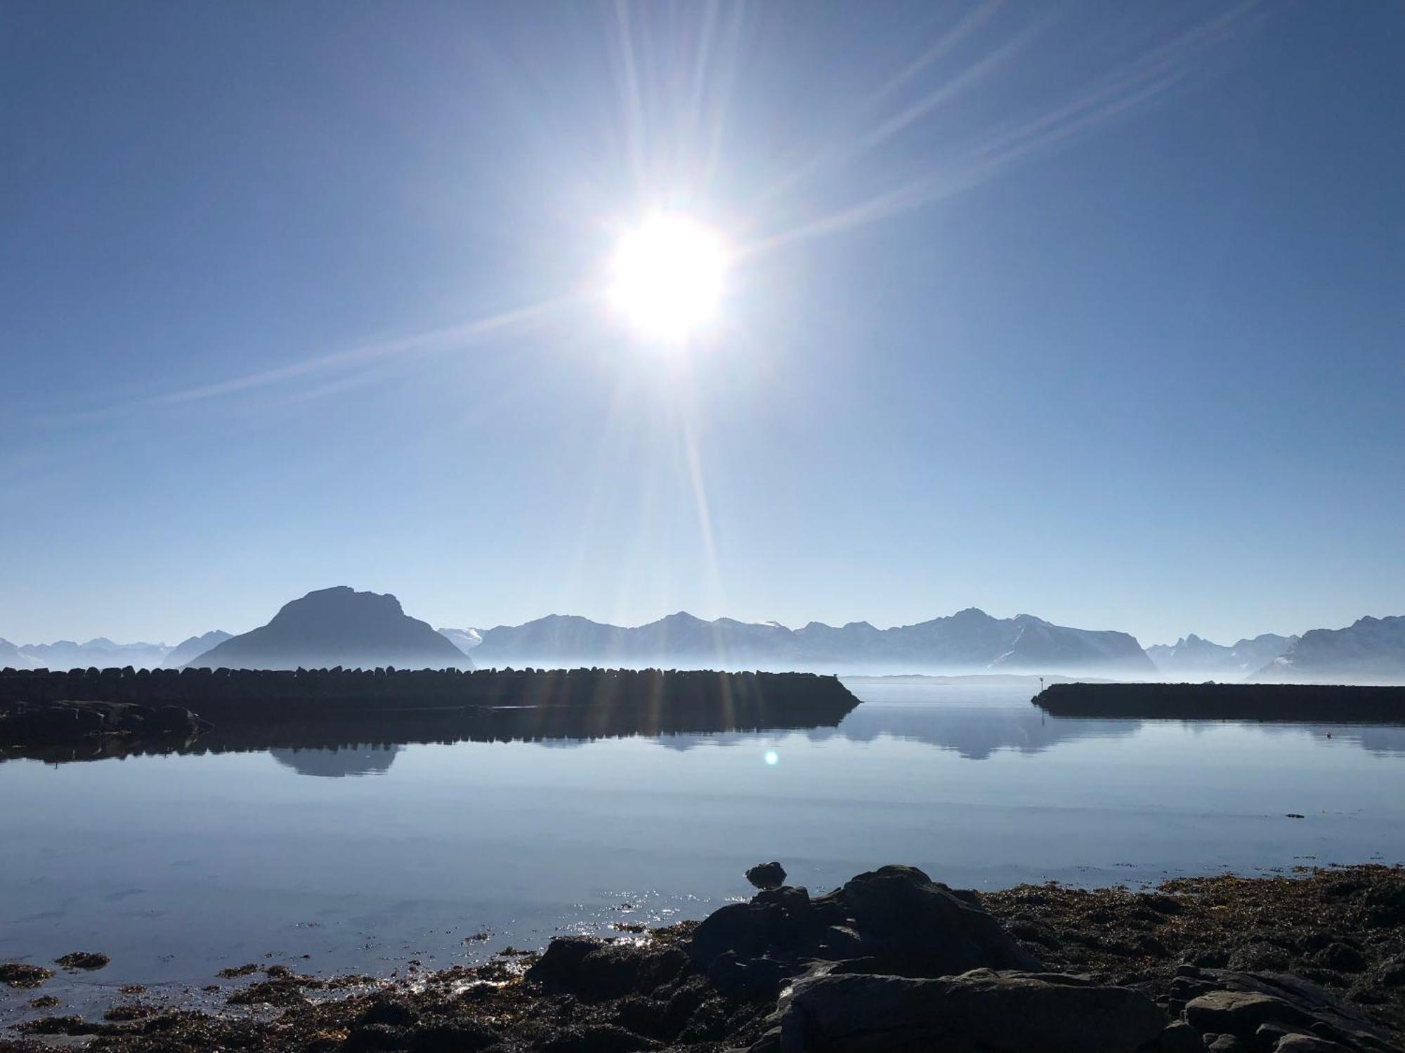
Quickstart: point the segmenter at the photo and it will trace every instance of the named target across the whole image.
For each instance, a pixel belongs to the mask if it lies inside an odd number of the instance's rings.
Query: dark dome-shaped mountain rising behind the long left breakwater
[[[472,668],[464,651],[429,622],[410,618],[393,595],[347,585],[285,604],[268,625],[230,636],[191,665],[230,670]]]

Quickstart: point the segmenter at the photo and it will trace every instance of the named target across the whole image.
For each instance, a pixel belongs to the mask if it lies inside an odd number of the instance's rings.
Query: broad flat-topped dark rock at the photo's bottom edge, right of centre
[[[1125,987],[1079,977],[976,969],[909,979],[819,974],[781,1000],[777,1053],[1134,1053],[1165,1029],[1161,1009]]]

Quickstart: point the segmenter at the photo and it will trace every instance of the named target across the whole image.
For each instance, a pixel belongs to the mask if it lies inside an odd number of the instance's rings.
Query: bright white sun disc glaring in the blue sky
[[[620,239],[610,300],[642,337],[676,345],[714,319],[726,263],[717,234],[663,212]]]

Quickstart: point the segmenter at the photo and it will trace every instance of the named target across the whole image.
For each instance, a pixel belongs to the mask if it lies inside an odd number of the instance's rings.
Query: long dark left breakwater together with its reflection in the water
[[[593,739],[836,724],[858,701],[835,677],[662,670],[74,670],[0,673],[0,734],[20,708],[63,702],[181,708],[214,724],[160,748],[259,750],[347,743]],[[72,758],[149,748],[74,729],[3,746]],[[28,755],[35,755],[32,751]]]

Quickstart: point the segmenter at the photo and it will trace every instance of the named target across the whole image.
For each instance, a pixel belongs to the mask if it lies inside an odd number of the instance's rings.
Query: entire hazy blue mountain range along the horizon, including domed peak
[[[472,657],[469,657],[472,656]],[[548,615],[492,629],[433,629],[393,595],[348,587],[309,592],[240,636],[212,630],[174,647],[114,643],[17,646],[0,640],[0,667],[562,667],[815,670],[842,674],[1040,673],[1125,680],[1405,682],[1405,618],[1361,618],[1343,629],[1263,633],[1224,646],[1190,633],[1142,650],[1116,630],[1075,629],[1033,615],[992,618],[967,608],[878,629],[811,622],[704,621],[679,612],[641,626]]]

